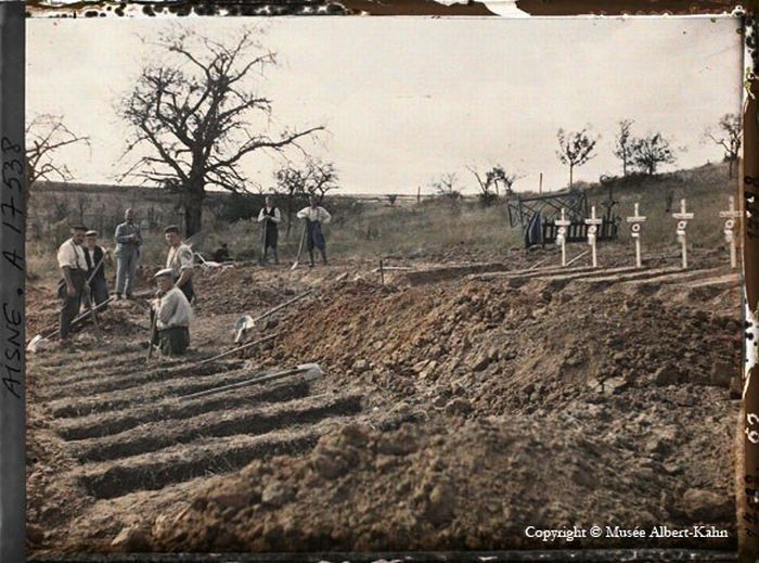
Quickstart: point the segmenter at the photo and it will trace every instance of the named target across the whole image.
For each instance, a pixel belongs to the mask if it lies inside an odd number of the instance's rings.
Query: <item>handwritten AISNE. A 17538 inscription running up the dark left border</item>
[[[0,197],[0,218],[2,220],[2,270],[17,272],[20,279],[15,292],[9,292],[2,303],[3,354],[2,380],[3,394],[23,399],[23,360],[24,360],[24,290],[22,289],[24,264],[24,152],[21,143],[14,143],[7,137],[0,139],[2,165],[2,196]],[[8,267],[12,269],[9,269]],[[10,280],[8,280],[10,281]],[[13,302],[11,296],[16,296]]]

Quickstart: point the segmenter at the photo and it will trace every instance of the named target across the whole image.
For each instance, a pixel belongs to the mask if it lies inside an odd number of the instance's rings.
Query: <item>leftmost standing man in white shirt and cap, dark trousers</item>
[[[80,225],[72,228],[72,238],[57,249],[57,266],[61,269],[61,281],[57,295],[61,298],[61,315],[59,336],[61,344],[68,343],[72,321],[79,315],[81,299],[87,287],[87,259],[81,244],[85,242],[87,228]]]

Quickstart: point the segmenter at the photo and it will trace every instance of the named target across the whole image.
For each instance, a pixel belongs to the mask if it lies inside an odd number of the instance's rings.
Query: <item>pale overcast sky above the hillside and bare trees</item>
[[[183,20],[223,40],[242,17]],[[443,172],[475,191],[467,165],[502,164],[517,189],[558,189],[556,130],[590,125],[597,156],[575,178],[620,174],[612,154],[617,121],[661,131],[677,168],[717,162],[704,129],[741,110],[741,36],[731,18],[258,20],[279,66],[256,77],[273,101],[271,133],[324,124],[306,148],[335,163],[346,193],[415,193]],[[77,181],[113,183],[127,130],[114,114],[150,53],[140,36],[166,20],[27,20],[27,115],[63,115],[91,150],[61,153]],[[260,81],[262,80],[262,81]],[[300,158],[293,152],[294,159]],[[263,188],[275,157],[244,163]],[[671,169],[671,167],[670,167]]]

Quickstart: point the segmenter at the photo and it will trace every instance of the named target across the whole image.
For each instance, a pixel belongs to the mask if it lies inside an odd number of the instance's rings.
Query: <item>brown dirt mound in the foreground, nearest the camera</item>
[[[191,551],[490,550],[545,547],[528,526],[592,524],[651,529],[683,522],[671,483],[613,448],[556,424],[523,418],[350,425],[301,458],[254,462],[214,479],[192,506],[152,526],[153,549]],[[612,491],[627,490],[616,497]],[[708,494],[691,492],[707,498]],[[700,495],[700,497],[699,497]],[[733,527],[724,497],[709,523]],[[702,547],[725,547],[715,539]],[[667,545],[657,539],[645,546]],[[686,541],[696,547],[693,540]],[[571,547],[642,547],[641,539],[578,539]],[[559,546],[554,546],[559,547]],[[564,546],[562,546],[564,547]]]

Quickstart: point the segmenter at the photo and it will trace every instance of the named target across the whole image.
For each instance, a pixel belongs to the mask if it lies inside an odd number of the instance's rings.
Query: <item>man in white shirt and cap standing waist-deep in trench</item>
[[[173,283],[173,270],[165,268],[155,274],[157,298],[151,305],[155,315],[155,336],[151,346],[158,346],[165,356],[182,356],[190,345],[192,306]]]

